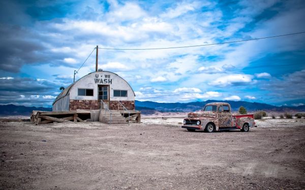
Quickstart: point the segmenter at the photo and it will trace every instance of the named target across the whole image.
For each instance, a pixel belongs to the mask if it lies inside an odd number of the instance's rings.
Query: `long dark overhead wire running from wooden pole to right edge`
[[[283,35],[274,35],[274,36],[268,36],[268,37],[259,37],[256,39],[249,39],[249,40],[239,40],[239,41],[195,45],[195,46],[180,46],[180,47],[169,47],[169,48],[144,48],[144,49],[119,49],[119,48],[99,48],[99,49],[103,49],[103,50],[164,50],[164,49],[177,49],[177,48],[193,48],[193,47],[200,47],[200,46],[212,46],[212,45],[220,45],[220,44],[231,44],[231,43],[237,43],[237,42],[247,42],[247,41],[254,41],[254,40],[270,39],[273,37],[281,37],[281,36],[295,35],[295,34],[301,34],[301,33],[305,33],[305,31],[297,32],[297,33],[283,34]]]

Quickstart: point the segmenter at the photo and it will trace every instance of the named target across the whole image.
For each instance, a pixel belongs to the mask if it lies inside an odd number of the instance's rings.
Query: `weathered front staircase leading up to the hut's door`
[[[111,121],[110,121],[111,115]],[[119,111],[114,110],[101,110],[100,112],[100,122],[106,124],[127,124],[126,119],[121,115]]]

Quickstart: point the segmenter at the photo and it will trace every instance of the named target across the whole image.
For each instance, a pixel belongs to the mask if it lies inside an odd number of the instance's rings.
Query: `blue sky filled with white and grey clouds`
[[[51,107],[100,48],[196,46],[305,31],[304,1],[0,1],[0,104]],[[99,49],[136,100],[305,104],[305,34]],[[95,71],[94,51],[76,74]]]

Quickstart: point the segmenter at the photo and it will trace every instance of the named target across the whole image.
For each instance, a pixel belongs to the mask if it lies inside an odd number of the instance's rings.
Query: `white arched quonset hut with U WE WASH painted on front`
[[[53,102],[53,111],[76,109],[135,110],[135,93],[119,75],[91,72],[64,89]]]

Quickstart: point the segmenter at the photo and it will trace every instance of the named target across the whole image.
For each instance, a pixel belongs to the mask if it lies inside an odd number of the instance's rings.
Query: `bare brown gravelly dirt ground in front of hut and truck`
[[[0,189],[305,189],[305,120],[250,132],[142,124],[0,123]]]

